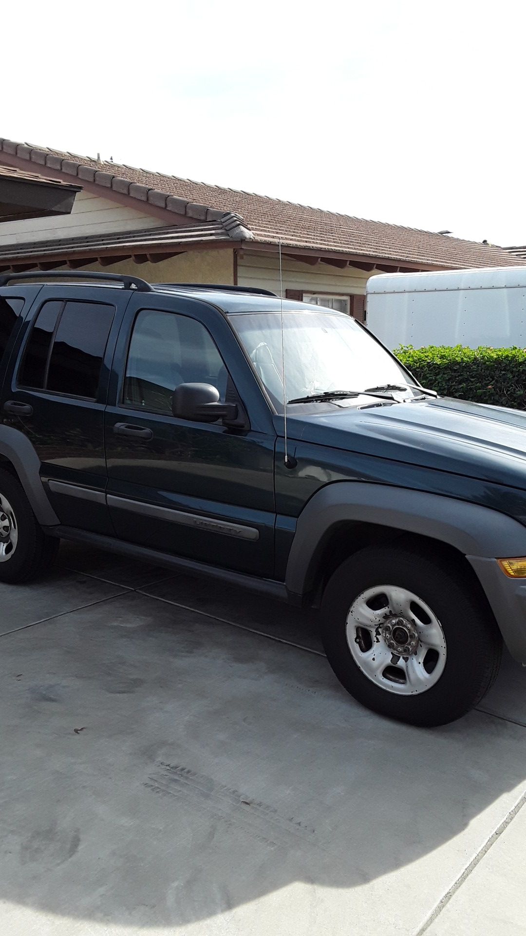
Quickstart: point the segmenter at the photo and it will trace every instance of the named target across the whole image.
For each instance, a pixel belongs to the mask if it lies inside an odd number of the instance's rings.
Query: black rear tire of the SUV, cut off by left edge
[[[10,552],[0,555],[0,582],[27,582],[51,566],[60,541],[43,533],[20,482],[0,469],[0,508],[6,500],[14,517],[17,542],[15,548],[10,544]],[[7,535],[0,539],[4,548]]]

